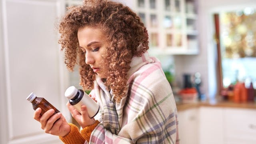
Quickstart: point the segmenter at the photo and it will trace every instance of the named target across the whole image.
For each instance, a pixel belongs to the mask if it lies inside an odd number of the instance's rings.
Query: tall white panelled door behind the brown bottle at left
[[[63,60],[55,25],[62,0],[2,0],[0,59],[2,144],[61,143],[33,119],[26,97],[34,92],[65,114]],[[2,28],[2,27],[1,27]],[[63,98],[62,98],[63,97]]]

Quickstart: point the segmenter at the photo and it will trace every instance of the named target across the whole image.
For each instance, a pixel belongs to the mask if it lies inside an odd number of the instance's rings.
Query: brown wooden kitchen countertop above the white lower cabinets
[[[193,102],[193,103],[182,103],[176,102],[178,111],[187,110],[190,108],[199,108],[201,106],[211,106],[211,107],[225,107],[225,108],[250,108],[256,109],[256,102],[247,103],[235,103],[230,101],[222,102]]]

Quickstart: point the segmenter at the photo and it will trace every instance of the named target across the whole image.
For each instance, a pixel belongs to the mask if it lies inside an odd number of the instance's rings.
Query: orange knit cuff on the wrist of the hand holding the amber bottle
[[[59,136],[60,140],[64,144],[84,144],[85,140],[80,134],[78,127],[72,123],[68,124],[70,125],[70,132],[64,137]]]

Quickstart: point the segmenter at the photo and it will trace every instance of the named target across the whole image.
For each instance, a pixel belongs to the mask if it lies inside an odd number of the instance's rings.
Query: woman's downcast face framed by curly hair
[[[82,27],[78,29],[77,36],[79,46],[85,54],[85,63],[89,64],[100,78],[106,78],[106,73],[100,66],[102,55],[106,53],[108,46],[102,31],[98,28]]]

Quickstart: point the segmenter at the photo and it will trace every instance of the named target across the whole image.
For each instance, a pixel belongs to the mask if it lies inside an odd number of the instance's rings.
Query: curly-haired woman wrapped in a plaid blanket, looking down
[[[106,0],[84,0],[60,22],[59,43],[69,70],[80,66],[80,85],[100,112],[89,118],[68,103],[81,132],[61,113],[48,110],[34,119],[46,133],[67,144],[179,143],[177,110],[161,64],[148,55],[148,33],[130,8]]]

